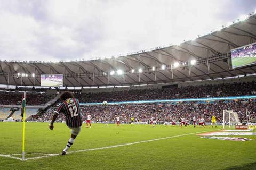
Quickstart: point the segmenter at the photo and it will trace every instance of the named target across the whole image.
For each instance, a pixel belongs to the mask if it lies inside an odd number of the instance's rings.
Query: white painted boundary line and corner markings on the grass
[[[157,138],[157,139],[151,139],[151,140],[143,140],[143,141],[139,141],[139,142],[125,143],[125,144],[121,144],[121,145],[114,145],[114,146],[108,146],[108,147],[75,150],[75,151],[67,152],[67,154],[73,154],[73,153],[77,153],[77,152],[86,152],[86,151],[92,151],[92,150],[108,149],[108,148],[116,148],[116,147],[122,147],[122,146],[129,146],[129,145],[134,145],[134,144],[138,144],[138,143],[145,143],[145,142],[152,142],[152,141],[163,140],[163,139],[183,137],[183,136],[191,135],[191,134],[197,134],[197,133],[203,133],[203,132],[211,132],[211,131],[218,131],[218,130],[221,130],[221,129],[210,130],[210,131],[201,131],[201,132],[195,132],[195,133],[187,133],[187,134],[180,134],[180,135],[175,135],[175,136],[171,136],[171,137]],[[21,154],[12,154],[12,155],[21,155]],[[22,160],[22,158],[13,157],[12,155],[0,154],[0,157],[2,156],[2,157]],[[33,155],[40,155],[40,154],[34,153]],[[57,155],[60,155],[60,154],[42,154],[42,155],[44,155],[44,156],[38,156],[38,157],[33,157],[33,158],[25,158],[25,160],[41,159],[41,158],[46,158],[46,157],[57,156]]]

